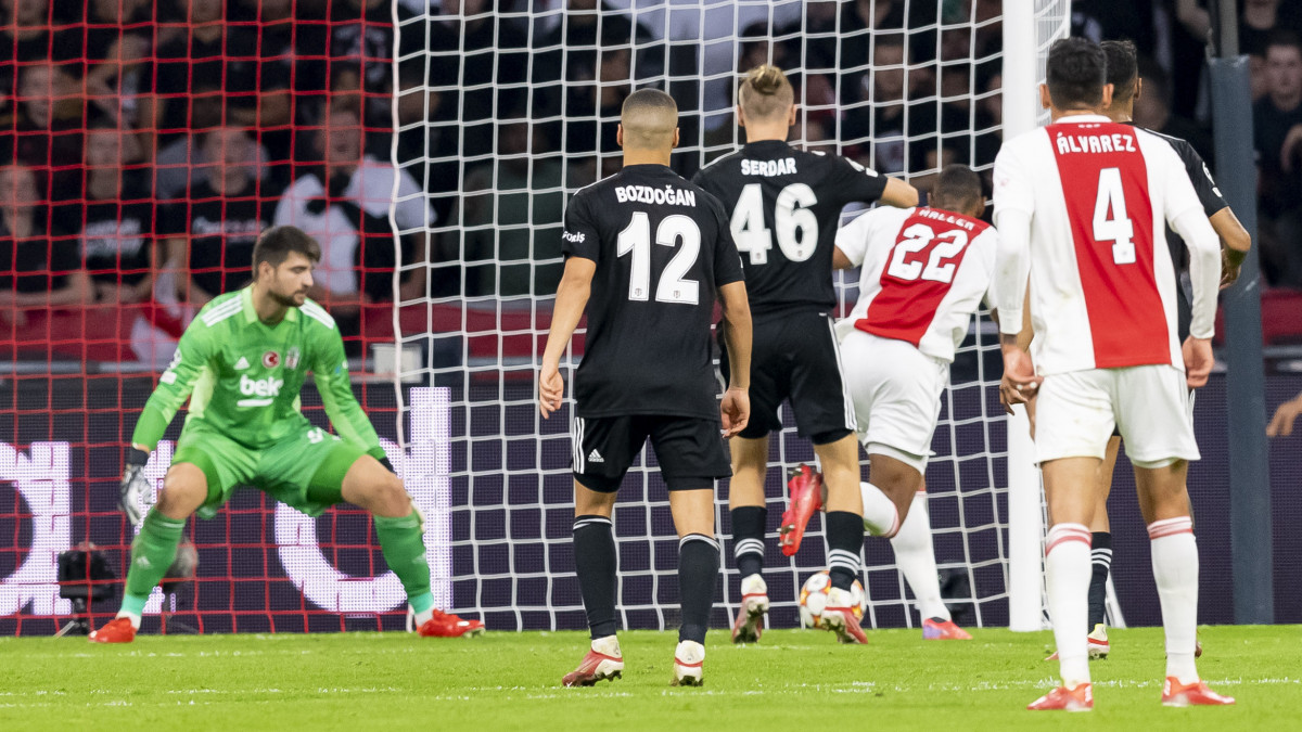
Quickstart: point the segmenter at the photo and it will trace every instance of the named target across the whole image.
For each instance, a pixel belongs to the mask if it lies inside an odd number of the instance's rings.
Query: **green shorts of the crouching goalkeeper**
[[[172,465],[190,462],[208,479],[208,498],[197,512],[216,516],[240,486],[254,486],[307,516],[342,501],[344,475],[366,449],[320,427],[306,427],[276,444],[247,448],[202,422],[190,422],[177,440]]]

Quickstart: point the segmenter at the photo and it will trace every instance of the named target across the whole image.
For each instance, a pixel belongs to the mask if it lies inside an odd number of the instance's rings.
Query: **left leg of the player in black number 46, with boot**
[[[768,436],[733,438],[733,478],[728,487],[732,514],[733,559],[741,576],[741,607],[733,623],[734,643],[754,643],[764,632],[768,612],[768,586],[764,569],[764,473],[768,465]]]

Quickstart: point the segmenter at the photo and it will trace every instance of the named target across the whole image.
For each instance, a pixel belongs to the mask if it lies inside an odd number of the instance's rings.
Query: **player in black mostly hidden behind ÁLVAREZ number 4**
[[[1134,103],[1143,92],[1143,79],[1139,78],[1138,59],[1135,47],[1129,40],[1104,40],[1099,44],[1108,57],[1108,83],[1112,85],[1112,104],[1101,109],[1115,122],[1128,125],[1134,124]],[[1141,128],[1143,129],[1143,128]],[[1203,204],[1203,212],[1211,221],[1212,228],[1221,240],[1221,288],[1226,288],[1238,279],[1238,270],[1247,257],[1253,244],[1247,229],[1234,216],[1229,203],[1221,197],[1216,181],[1212,178],[1207,163],[1194,146],[1178,137],[1150,132],[1168,143],[1180,155],[1185,164],[1185,172],[1194,184],[1198,201]],[[1170,260],[1176,264],[1176,277],[1182,280],[1189,271],[1189,250],[1185,247],[1180,234],[1167,231],[1167,245],[1170,249]],[[1176,287],[1177,332],[1180,343],[1189,337],[1189,323],[1193,319],[1193,309],[1189,301],[1185,284]],[[1022,337],[1018,339],[1023,340]],[[1193,400],[1193,395],[1190,395]],[[1108,643],[1107,630],[1107,591],[1108,573],[1112,569],[1112,526],[1108,522],[1108,494],[1112,491],[1112,473],[1117,465],[1117,452],[1121,448],[1121,434],[1113,432],[1108,440],[1108,449],[1098,473],[1098,490],[1095,495],[1099,503],[1095,505],[1091,531],[1091,567],[1090,593],[1088,593],[1088,650],[1090,658],[1105,658],[1112,650]],[[1197,655],[1202,654],[1202,647],[1197,649]],[[1057,654],[1051,655],[1055,659]]]

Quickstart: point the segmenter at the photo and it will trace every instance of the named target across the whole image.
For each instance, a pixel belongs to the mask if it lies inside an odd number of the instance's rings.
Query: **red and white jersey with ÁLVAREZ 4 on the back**
[[[1030,216],[1031,344],[1042,375],[1170,363],[1184,367],[1165,223],[1202,204],[1170,145],[1094,115],[1070,116],[1004,145],[995,206]],[[1016,242],[1005,232],[1009,246]],[[1001,254],[1001,268],[1005,259]],[[1025,264],[1023,264],[1025,267]],[[1025,283],[1025,268],[1019,275]],[[1021,293],[1000,275],[1000,322],[1021,323]],[[1210,337],[1210,309],[1193,332]],[[1195,310],[1199,310],[1195,307]],[[1017,315],[1013,320],[1008,315]]]

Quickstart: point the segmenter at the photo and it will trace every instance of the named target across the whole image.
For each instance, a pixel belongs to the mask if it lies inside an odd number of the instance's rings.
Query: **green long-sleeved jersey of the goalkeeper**
[[[152,449],[189,397],[186,426],[203,423],[250,449],[271,447],[310,427],[298,392],[311,371],[335,431],[383,456],[375,427],[353,397],[335,319],[309,300],[268,326],[254,310],[251,287],[214,298],[195,315],[132,442]]]

